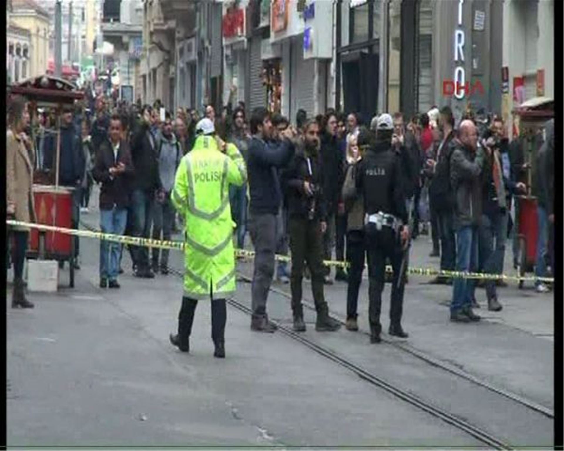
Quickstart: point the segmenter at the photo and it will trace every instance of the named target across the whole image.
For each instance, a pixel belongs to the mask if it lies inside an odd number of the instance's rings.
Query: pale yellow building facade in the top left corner
[[[15,57],[25,59],[26,64],[29,63],[29,67],[25,70],[25,78],[37,77],[47,72],[49,60],[49,21],[49,13],[45,8],[39,6],[37,2],[33,0],[12,1],[10,22],[15,27],[29,32],[27,56],[23,56],[23,46],[20,45],[21,56],[19,57],[17,56],[17,46],[14,47]]]

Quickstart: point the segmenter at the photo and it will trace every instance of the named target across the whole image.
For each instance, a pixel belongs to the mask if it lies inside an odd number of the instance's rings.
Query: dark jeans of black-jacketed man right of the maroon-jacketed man
[[[136,189],[131,194],[131,209],[133,210],[132,236],[142,238],[149,238],[151,236],[152,206],[152,193]],[[147,247],[132,246],[131,254],[138,269],[147,269],[149,267],[149,249]]]

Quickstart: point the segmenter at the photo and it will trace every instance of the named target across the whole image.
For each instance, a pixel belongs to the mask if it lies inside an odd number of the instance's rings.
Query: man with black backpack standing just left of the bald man
[[[456,241],[453,225],[454,199],[450,182],[452,142],[455,138],[454,125],[455,119],[451,108],[443,107],[439,116],[439,129],[443,132],[443,139],[437,148],[435,158],[429,158],[426,163],[431,178],[429,197],[437,214],[439,225],[440,269],[443,271],[453,271],[456,263]],[[431,280],[431,283],[450,284],[450,281],[448,278],[438,276]]]

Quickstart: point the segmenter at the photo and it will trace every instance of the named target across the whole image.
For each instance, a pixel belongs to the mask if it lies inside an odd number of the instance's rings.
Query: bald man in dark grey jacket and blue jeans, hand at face
[[[487,152],[487,150],[486,150]],[[483,151],[478,151],[478,132],[474,123],[460,123],[450,169],[455,194],[456,271],[475,272],[478,268],[478,226],[482,218]],[[451,321],[479,321],[472,311],[475,281],[456,278],[453,282]]]

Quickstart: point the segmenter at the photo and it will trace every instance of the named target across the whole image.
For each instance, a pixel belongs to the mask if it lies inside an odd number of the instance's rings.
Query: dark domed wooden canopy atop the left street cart
[[[63,78],[43,75],[29,78],[18,85],[8,88],[10,95],[22,95],[41,104],[73,104],[84,97],[83,91]]]

